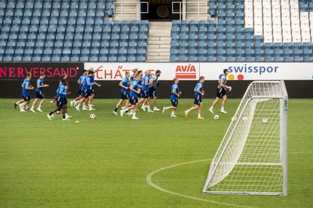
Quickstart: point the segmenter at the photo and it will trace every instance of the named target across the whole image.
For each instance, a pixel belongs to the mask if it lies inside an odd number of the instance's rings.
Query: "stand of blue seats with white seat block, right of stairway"
[[[209,0],[208,5],[215,17],[210,21],[172,22],[171,62],[312,61],[313,1]]]

